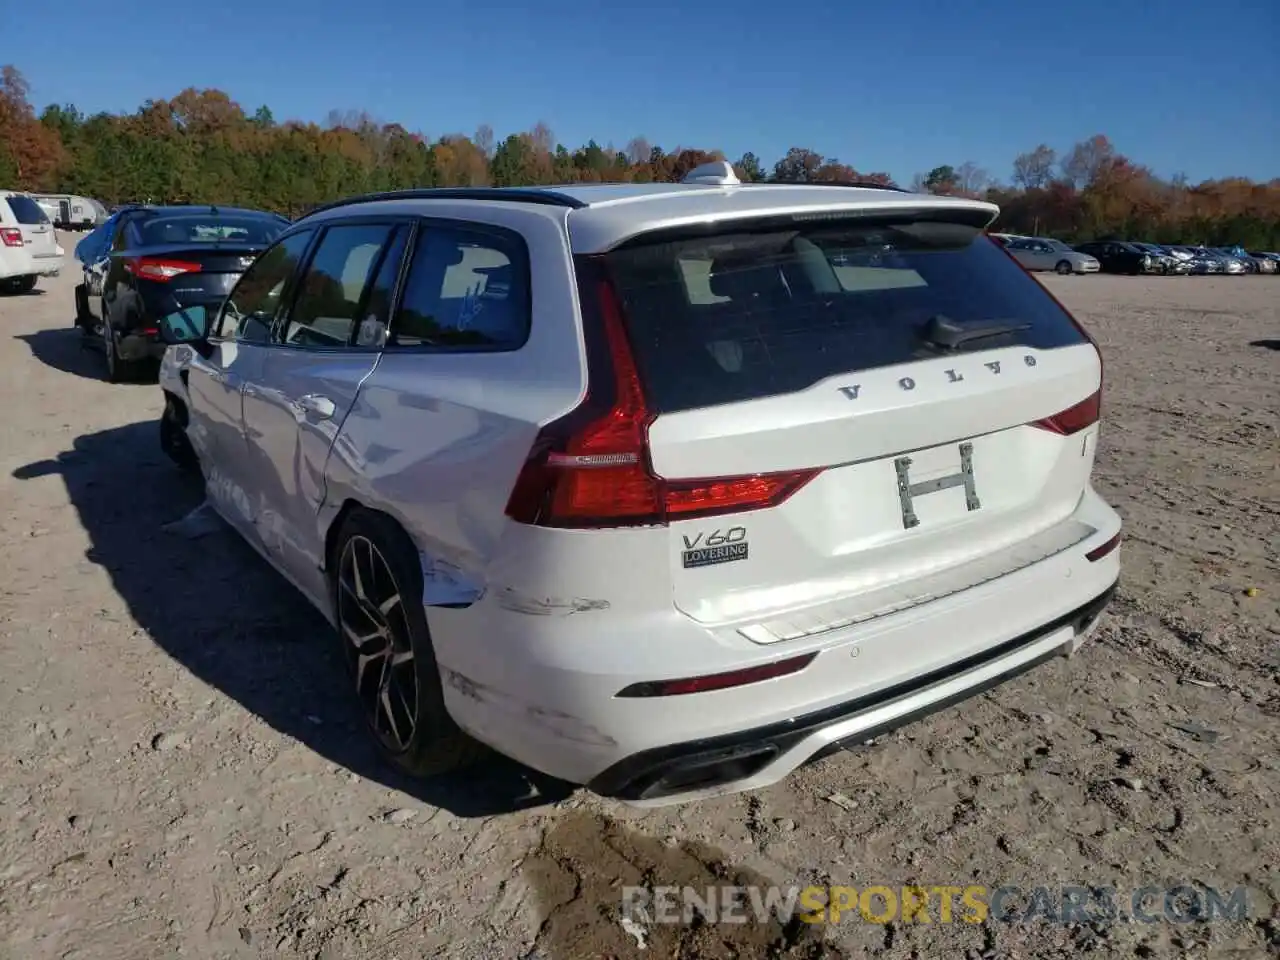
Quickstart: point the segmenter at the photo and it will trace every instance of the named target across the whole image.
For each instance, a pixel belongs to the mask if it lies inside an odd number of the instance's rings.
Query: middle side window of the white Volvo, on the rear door
[[[294,347],[346,347],[360,317],[365,288],[396,224],[330,227],[320,238],[278,342]]]

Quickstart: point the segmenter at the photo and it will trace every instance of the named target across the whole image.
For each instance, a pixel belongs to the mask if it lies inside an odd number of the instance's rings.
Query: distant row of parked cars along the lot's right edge
[[[993,233],[1012,257],[1028,270],[1060,274],[1190,274],[1280,273],[1280,253],[1247,251],[1243,247],[1189,247],[1138,241],[1089,241],[1074,247],[1048,237]]]

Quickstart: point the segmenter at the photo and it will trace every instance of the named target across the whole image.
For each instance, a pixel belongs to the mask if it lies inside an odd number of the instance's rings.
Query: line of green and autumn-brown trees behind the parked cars
[[[269,108],[247,113],[218,90],[188,88],[127,115],[87,116],[69,104],[37,113],[22,73],[0,68],[0,187],[108,205],[214,202],[292,218],[339,197],[406,187],[675,182],[713,159],[727,157],[701,147],[666,151],[644,137],[621,150],[594,140],[570,150],[545,124],[502,140],[488,125],[431,140],[366,113],[279,123]],[[751,152],[733,166],[744,180],[892,183],[805,147],[791,147],[772,168]],[[1014,159],[1007,182],[961,163],[922,173],[911,187],[991,200],[1001,207],[996,229],[1010,233],[1280,248],[1280,178],[1161,179],[1102,134],[1061,155],[1038,145]]]

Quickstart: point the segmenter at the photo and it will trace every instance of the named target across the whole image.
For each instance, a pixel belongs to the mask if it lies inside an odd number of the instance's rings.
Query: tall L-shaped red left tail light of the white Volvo
[[[646,526],[774,507],[818,470],[666,480],[649,461],[649,411],[603,264],[577,262],[588,340],[588,393],[534,440],[507,516],[549,527]]]

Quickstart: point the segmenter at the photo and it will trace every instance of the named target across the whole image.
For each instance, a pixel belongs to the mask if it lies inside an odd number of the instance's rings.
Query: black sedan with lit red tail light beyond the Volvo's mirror
[[[76,325],[101,343],[108,379],[134,379],[155,365],[164,317],[201,328],[288,223],[260,210],[137,205],[84,237],[76,248],[84,273]]]

